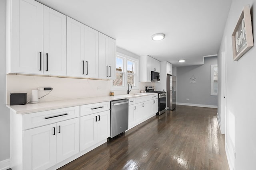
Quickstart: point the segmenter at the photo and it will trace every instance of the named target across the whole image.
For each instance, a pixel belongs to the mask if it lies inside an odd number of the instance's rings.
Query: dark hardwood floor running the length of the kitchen
[[[216,113],[177,106],[59,170],[229,170]]]

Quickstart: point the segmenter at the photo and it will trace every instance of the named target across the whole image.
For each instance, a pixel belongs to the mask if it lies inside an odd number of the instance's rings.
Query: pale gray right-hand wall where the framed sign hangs
[[[233,61],[231,35],[245,5],[250,5],[254,47],[238,61]],[[227,48],[225,47],[227,39]],[[227,57],[226,89],[226,154],[230,169],[255,169],[256,160],[256,1],[232,0],[230,12],[222,37],[221,53]],[[219,59],[219,61],[221,61]],[[224,70],[222,70],[224,72]],[[221,96],[218,96],[221,100]],[[221,110],[218,110],[221,111]],[[218,113],[219,114],[219,113]]]

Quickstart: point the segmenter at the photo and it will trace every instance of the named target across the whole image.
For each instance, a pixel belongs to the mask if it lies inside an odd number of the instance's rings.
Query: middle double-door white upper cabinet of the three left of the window
[[[67,75],[98,78],[98,31],[67,18]]]

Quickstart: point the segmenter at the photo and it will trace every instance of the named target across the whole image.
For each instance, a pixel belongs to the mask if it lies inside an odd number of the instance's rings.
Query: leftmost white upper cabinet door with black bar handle
[[[10,72],[43,74],[43,5],[34,0],[12,0]],[[41,68],[41,70],[40,70]]]

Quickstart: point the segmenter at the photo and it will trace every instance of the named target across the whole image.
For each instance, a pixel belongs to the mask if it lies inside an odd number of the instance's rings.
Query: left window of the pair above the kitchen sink
[[[113,80],[113,86],[124,86],[124,58],[116,57],[116,80]]]

